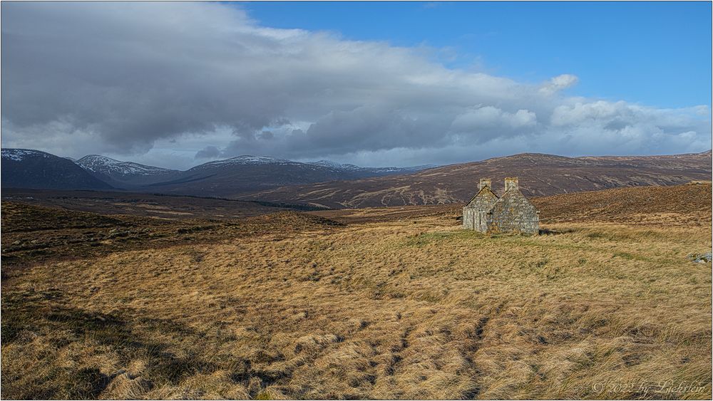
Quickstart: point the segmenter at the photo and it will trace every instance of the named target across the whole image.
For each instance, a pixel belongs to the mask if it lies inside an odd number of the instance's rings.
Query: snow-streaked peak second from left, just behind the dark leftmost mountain
[[[178,170],[122,162],[111,157],[87,155],[76,161],[77,165],[91,175],[113,184],[145,185],[165,181],[178,176]]]

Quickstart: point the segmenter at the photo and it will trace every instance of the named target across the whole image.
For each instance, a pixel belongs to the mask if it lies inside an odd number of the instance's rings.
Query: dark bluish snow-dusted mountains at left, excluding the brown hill
[[[48,175],[36,157],[43,155],[62,165]],[[233,197],[245,192],[272,189],[284,185],[311,184],[343,179],[405,174],[435,166],[359,167],[327,160],[303,163],[275,157],[239,156],[216,160],[180,171],[123,162],[101,155],[87,155],[79,160],[57,157],[36,150],[4,149],[3,187],[39,189],[127,189],[140,192]],[[6,163],[7,162],[7,163]],[[6,167],[7,165],[7,167]],[[58,176],[64,177],[58,179]],[[91,177],[91,182],[88,181]],[[18,179],[17,177],[24,177]]]

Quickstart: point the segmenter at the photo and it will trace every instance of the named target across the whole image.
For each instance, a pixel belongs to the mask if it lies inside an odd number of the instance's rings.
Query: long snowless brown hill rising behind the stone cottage
[[[478,179],[493,179],[500,191],[505,177],[520,178],[528,197],[613,187],[685,184],[711,180],[711,151],[668,156],[562,157],[523,153],[481,162],[437,167],[411,175],[292,185],[245,194],[238,199],[286,201],[314,206],[377,207],[466,202]]]

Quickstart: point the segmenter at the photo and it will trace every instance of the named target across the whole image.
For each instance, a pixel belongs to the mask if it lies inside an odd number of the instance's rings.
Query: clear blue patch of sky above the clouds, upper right
[[[537,83],[577,75],[568,90],[661,108],[711,105],[711,3],[250,2],[273,28],[434,46],[446,66]],[[455,57],[455,60],[453,59]]]

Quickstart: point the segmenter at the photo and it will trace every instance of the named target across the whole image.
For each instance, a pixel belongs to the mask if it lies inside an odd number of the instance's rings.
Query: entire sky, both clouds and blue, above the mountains
[[[187,169],[701,152],[710,2],[4,2],[2,147]]]

